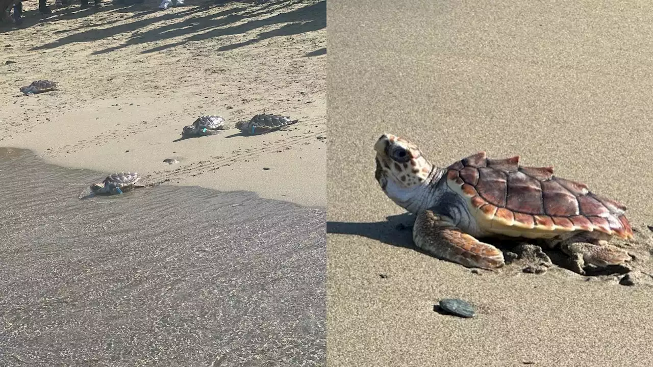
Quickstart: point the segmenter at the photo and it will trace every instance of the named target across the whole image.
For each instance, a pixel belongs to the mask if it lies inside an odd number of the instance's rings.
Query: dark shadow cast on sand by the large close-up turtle
[[[386,217],[387,221],[379,221],[372,223],[355,223],[355,222],[336,222],[327,221],[327,233],[330,234],[352,234],[356,236],[363,236],[372,240],[377,240],[388,244],[390,246],[403,247],[413,249],[419,253],[433,257],[427,251],[415,246],[413,242],[413,223],[415,222],[415,215],[410,213],[390,215]],[[524,259],[518,257],[511,257],[509,254],[515,251],[519,244],[533,244],[540,246],[542,251],[549,257],[551,263],[559,268],[565,268],[573,272],[573,264],[571,259],[560,249],[550,249],[547,246],[542,246],[535,242],[526,242],[521,239],[496,239],[496,238],[483,238],[483,242],[491,244],[500,249],[505,257],[506,265],[535,265],[529,263]],[[517,255],[517,254],[515,254]],[[626,274],[630,270],[625,266],[614,265],[605,268],[597,268],[594,266],[585,266],[585,276],[609,276],[614,274]]]

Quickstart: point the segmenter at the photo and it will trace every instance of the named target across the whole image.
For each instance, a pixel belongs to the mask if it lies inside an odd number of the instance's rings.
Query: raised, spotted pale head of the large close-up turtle
[[[403,208],[419,200],[420,189],[428,187],[433,165],[415,144],[404,138],[383,134],[374,144],[374,176],[390,199]]]

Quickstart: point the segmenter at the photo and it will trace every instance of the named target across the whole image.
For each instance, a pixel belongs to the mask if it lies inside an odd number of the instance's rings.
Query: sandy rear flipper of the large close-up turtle
[[[609,244],[590,244],[588,242],[577,242],[573,238],[560,244],[562,252],[569,255],[571,259],[571,270],[584,275],[584,266],[592,264],[597,268],[605,268],[611,265],[624,265],[632,258],[628,252],[619,247]]]

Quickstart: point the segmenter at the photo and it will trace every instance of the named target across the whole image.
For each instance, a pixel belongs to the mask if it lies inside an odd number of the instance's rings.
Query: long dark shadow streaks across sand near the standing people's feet
[[[57,48],[60,46],[65,46],[67,44],[72,44],[75,42],[94,42],[100,39],[106,39],[108,37],[114,37],[119,34],[128,33],[130,34],[129,39],[125,43],[114,46],[110,48],[105,48],[104,50],[98,50],[93,52],[93,54],[105,54],[107,52],[112,52],[114,50],[119,50],[127,46],[135,44],[145,44],[148,42],[156,42],[157,40],[170,39],[174,37],[183,37],[184,39],[179,42],[174,42],[172,44],[165,44],[163,46],[157,46],[155,48],[150,48],[148,50],[142,51],[142,54],[148,54],[151,52],[157,52],[161,50],[166,50],[175,46],[180,46],[186,44],[187,42],[195,42],[199,40],[210,39],[212,37],[221,37],[225,35],[238,35],[242,33],[247,33],[261,27],[267,27],[276,24],[284,24],[278,29],[273,29],[271,31],[264,31],[257,35],[253,39],[249,39],[245,42],[235,42],[226,46],[222,46],[217,51],[233,50],[234,48],[239,48],[241,46],[246,46],[259,42],[261,40],[270,39],[272,37],[285,36],[285,35],[297,35],[300,33],[315,31],[318,29],[323,29],[327,27],[327,5],[326,1],[298,1],[298,0],[276,0],[269,1],[264,5],[255,5],[249,4],[247,6],[237,6],[232,8],[225,8],[225,10],[219,12],[210,11],[212,8],[219,7],[214,5],[214,1],[205,1],[191,3],[187,5],[187,10],[182,12],[161,12],[161,15],[152,17],[147,17],[142,20],[135,20],[134,22],[129,22],[127,24],[118,24],[110,27],[106,25],[111,25],[116,22],[121,22],[123,20],[137,19],[141,18],[147,14],[157,12],[158,10],[153,10],[152,7],[156,7],[155,4],[148,2],[147,4],[135,4],[135,5],[118,5],[108,4],[103,5],[99,8],[88,8],[80,10],[78,5],[71,5],[68,8],[63,10],[57,10],[55,14],[50,16],[43,16],[45,20],[39,20],[38,16],[33,16],[31,12],[29,14],[25,12],[24,24],[21,25],[21,28],[30,27],[35,24],[42,22],[52,21],[52,20],[67,20],[74,19],[86,16],[91,14],[91,12],[136,12],[133,16],[127,18],[120,18],[117,20],[110,20],[104,24],[90,23],[82,25],[80,27],[64,29],[62,31],[57,31],[55,34],[69,34],[60,39],[53,40],[50,43],[43,44],[31,48],[31,50],[43,50]],[[299,8],[293,8],[289,11],[289,7],[294,5],[304,4],[304,6]],[[34,10],[37,12],[37,10]],[[276,13],[276,14],[275,14]],[[40,14],[40,13],[39,13]],[[275,14],[268,16],[267,18],[260,19],[259,17],[265,16],[266,14]],[[183,22],[170,22],[182,16],[193,16]],[[235,23],[240,23],[244,20],[250,18],[259,18],[256,20],[250,20],[243,24],[233,25]],[[146,27],[151,24],[161,24],[161,26],[156,27],[155,29],[150,29],[148,31],[139,32],[139,29]],[[97,27],[106,27],[103,29],[97,29]],[[80,31],[82,30],[82,31]],[[77,33],[72,33],[74,31],[79,31]],[[315,55],[325,54],[321,50],[317,50]],[[308,56],[308,55],[307,55]]]

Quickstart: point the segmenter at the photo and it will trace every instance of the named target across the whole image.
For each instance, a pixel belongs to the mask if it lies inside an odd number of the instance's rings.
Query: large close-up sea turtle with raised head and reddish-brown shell
[[[633,238],[626,207],[592,193],[583,183],[553,175],[552,167],[524,167],[519,157],[470,155],[434,167],[404,138],[375,142],[375,178],[396,204],[416,215],[413,240],[440,259],[496,269],[503,253],[477,238],[526,238],[559,246],[571,267],[624,264],[629,254],[607,244]]]

